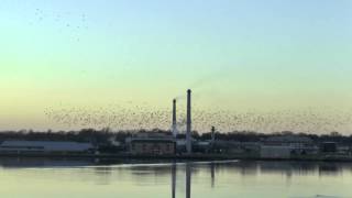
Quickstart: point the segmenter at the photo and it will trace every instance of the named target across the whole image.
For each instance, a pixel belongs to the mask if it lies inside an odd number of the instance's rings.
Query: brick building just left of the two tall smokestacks
[[[174,155],[176,141],[163,133],[140,133],[128,140],[130,153],[138,155]]]

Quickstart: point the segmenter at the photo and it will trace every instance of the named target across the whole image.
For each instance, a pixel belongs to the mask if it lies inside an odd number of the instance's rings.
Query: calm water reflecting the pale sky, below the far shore
[[[352,198],[350,163],[1,158],[0,165],[7,198]]]

